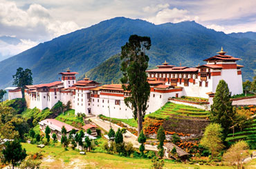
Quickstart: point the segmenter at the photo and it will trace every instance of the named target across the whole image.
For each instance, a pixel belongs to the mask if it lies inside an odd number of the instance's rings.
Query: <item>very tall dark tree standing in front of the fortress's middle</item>
[[[143,130],[143,119],[148,108],[147,101],[150,95],[150,86],[147,83],[145,70],[148,67],[149,57],[145,54],[149,50],[151,40],[149,37],[140,37],[133,34],[129,42],[122,46],[120,59],[123,77],[122,88],[131,92],[130,97],[125,98],[125,104],[134,113],[134,119],[138,119],[138,133]]]

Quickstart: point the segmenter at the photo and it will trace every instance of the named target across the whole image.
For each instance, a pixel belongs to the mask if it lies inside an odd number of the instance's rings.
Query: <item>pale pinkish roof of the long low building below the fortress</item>
[[[74,127],[70,126],[67,123],[63,123],[62,121],[58,121],[56,119],[44,119],[39,122],[40,125],[49,126],[53,130],[62,131],[62,126],[66,128],[66,132],[70,132]],[[74,128],[75,130],[79,130],[78,128]]]

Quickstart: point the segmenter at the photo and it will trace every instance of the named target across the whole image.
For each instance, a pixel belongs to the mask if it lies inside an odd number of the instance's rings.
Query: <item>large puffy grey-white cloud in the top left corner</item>
[[[6,34],[2,35],[15,32],[19,39],[46,41],[79,28],[81,27],[74,21],[54,19],[50,12],[39,4],[30,4],[27,10],[23,10],[14,2],[0,1],[0,29],[6,30]]]

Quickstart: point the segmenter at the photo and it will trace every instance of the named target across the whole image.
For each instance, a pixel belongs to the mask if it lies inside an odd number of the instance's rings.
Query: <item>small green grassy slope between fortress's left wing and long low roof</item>
[[[75,115],[75,110],[73,109],[67,110],[66,112],[58,115],[55,119],[78,128],[84,126],[84,121],[82,117],[81,118],[77,117]]]

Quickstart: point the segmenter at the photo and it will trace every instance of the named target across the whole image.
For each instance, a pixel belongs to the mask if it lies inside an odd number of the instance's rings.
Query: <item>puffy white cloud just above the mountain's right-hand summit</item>
[[[181,21],[192,21],[199,20],[199,17],[190,16],[188,10],[179,10],[178,8],[164,8],[156,13],[156,16],[149,17],[146,19],[152,23],[161,24],[161,23],[177,23]]]

